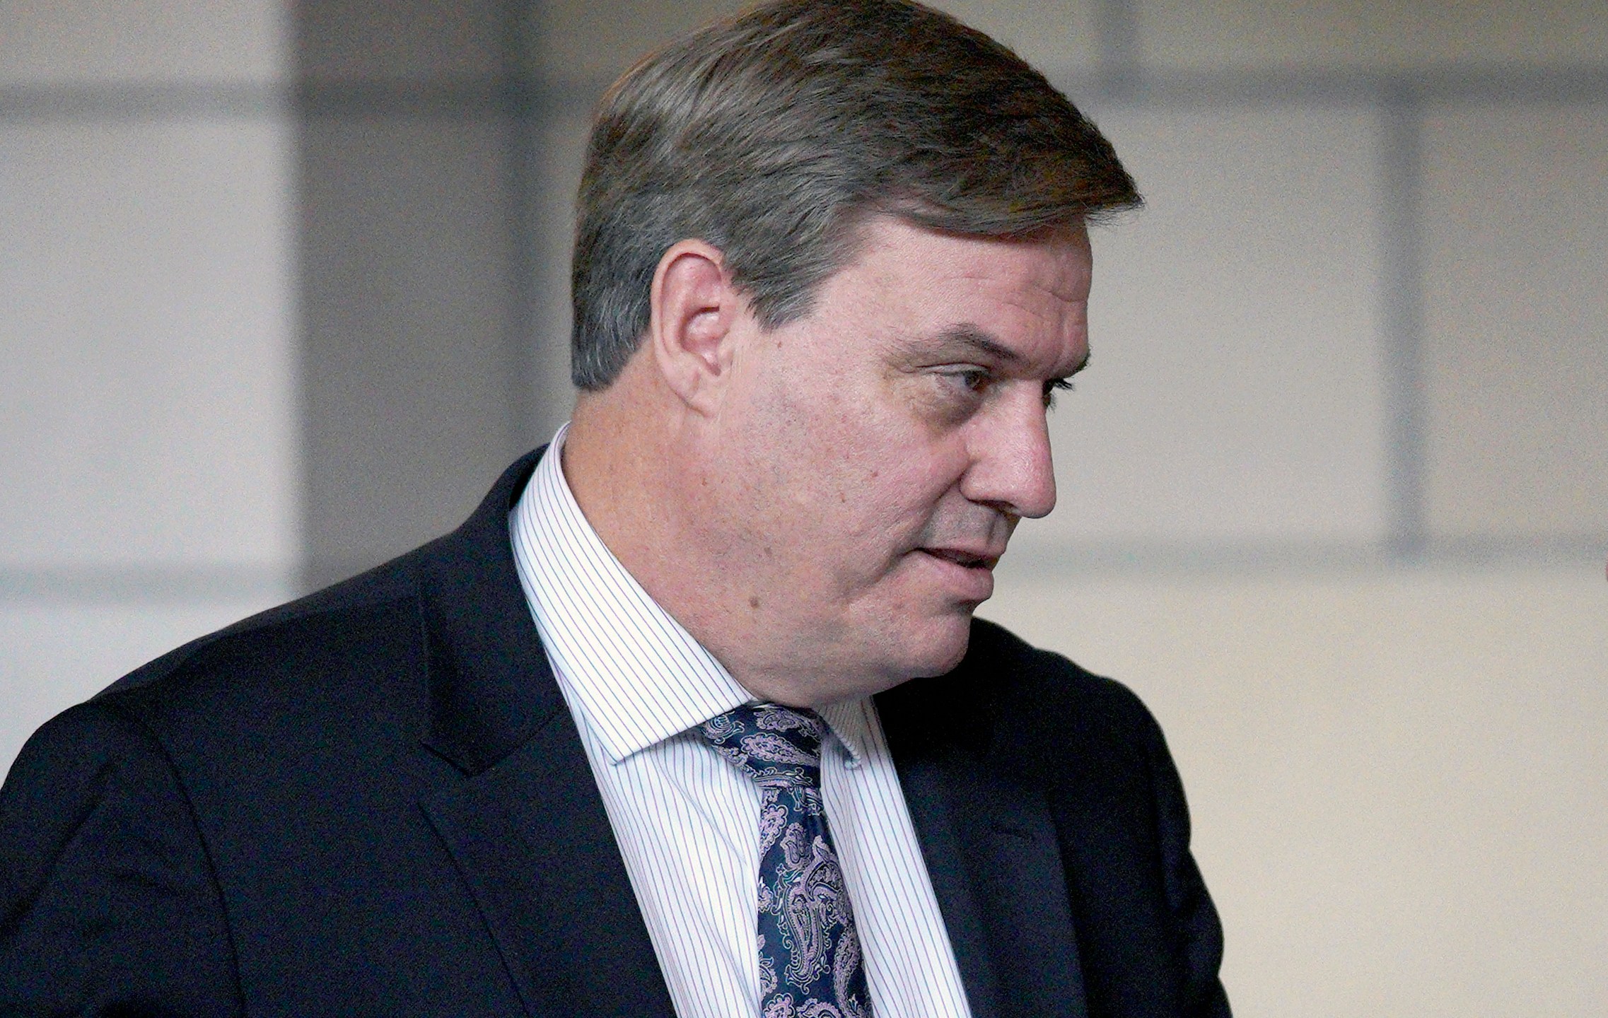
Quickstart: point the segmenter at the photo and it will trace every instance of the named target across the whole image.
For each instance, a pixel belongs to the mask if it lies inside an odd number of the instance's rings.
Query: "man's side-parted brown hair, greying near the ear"
[[[809,312],[884,212],[1019,236],[1137,206],[1111,143],[1028,63],[909,0],[773,0],[645,58],[587,146],[571,375],[605,389],[688,238],[725,256],[754,315]]]

